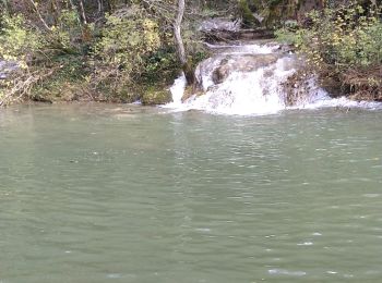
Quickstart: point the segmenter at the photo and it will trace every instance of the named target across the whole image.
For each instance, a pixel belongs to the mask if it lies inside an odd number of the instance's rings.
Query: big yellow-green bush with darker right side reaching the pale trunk
[[[98,93],[111,95],[105,97],[107,100],[114,97],[117,101],[132,101],[136,93],[144,91],[140,89],[142,83],[160,83],[175,62],[175,50],[160,35],[158,20],[134,4],[106,17],[93,51],[91,82]],[[158,72],[163,75],[158,76]]]

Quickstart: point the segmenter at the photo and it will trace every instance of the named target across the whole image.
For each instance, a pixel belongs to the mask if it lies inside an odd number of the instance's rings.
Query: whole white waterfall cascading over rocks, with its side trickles
[[[298,70],[299,62],[294,54],[282,52],[282,48],[273,44],[208,47],[214,56],[201,62],[195,71],[203,94],[183,100],[186,78],[181,76],[170,88],[174,102],[167,108],[237,115],[320,107],[381,108],[380,103],[332,99],[313,78],[307,82],[308,94],[288,107],[283,83]]]

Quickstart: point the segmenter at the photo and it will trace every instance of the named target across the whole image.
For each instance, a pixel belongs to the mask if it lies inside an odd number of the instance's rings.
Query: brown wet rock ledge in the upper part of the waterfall
[[[222,84],[234,72],[253,72],[260,67],[265,67],[275,63],[278,58],[279,56],[275,53],[227,56],[213,71],[212,79],[216,85]]]

